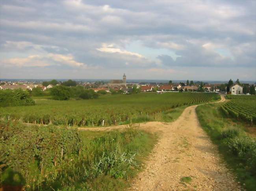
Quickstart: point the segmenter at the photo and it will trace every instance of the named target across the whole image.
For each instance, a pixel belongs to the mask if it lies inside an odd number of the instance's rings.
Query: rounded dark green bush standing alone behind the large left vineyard
[[[50,89],[50,95],[54,100],[69,100],[71,89],[62,85],[56,85]]]

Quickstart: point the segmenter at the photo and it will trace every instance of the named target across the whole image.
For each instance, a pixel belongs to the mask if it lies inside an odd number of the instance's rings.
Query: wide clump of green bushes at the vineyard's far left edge
[[[0,107],[35,105],[28,91],[5,89],[0,91]]]

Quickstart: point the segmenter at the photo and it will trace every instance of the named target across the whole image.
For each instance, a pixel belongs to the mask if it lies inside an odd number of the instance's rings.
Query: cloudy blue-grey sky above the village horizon
[[[255,0],[0,0],[0,78],[256,80]]]

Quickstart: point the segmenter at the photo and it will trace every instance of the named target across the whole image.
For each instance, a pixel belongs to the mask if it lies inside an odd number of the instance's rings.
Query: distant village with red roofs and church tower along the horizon
[[[187,80],[186,82],[173,83],[172,80],[165,83],[157,82],[126,82],[126,75],[123,75],[122,80],[109,80],[109,81],[96,81],[96,82],[76,82],[68,80],[70,82],[64,84],[63,82],[58,82],[57,80],[52,80],[50,82],[12,82],[12,81],[2,81],[0,82],[0,90],[2,89],[23,89],[32,91],[32,89],[37,88],[41,91],[46,91],[54,87],[55,85],[66,85],[66,86],[76,86],[80,85],[85,87],[85,89],[93,89],[95,92],[106,91],[106,93],[111,92],[121,92],[123,94],[132,93],[132,88],[137,88],[140,92],[156,92],[157,94],[168,93],[168,92],[208,92],[208,93],[222,93],[231,95],[253,95],[255,94],[255,83],[254,84],[241,84],[239,80],[235,83],[230,79],[228,84],[209,84],[204,82],[193,82]],[[254,91],[253,91],[254,90]]]

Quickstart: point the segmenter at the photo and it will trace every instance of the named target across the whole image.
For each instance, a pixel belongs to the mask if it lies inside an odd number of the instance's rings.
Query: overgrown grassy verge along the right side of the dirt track
[[[234,123],[224,115],[221,104],[198,106],[197,116],[202,128],[217,144],[237,181],[247,190],[256,187],[256,139],[247,135],[245,124]],[[252,127],[255,128],[255,127]]]

